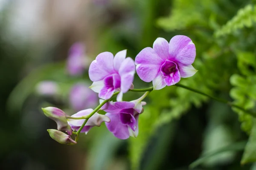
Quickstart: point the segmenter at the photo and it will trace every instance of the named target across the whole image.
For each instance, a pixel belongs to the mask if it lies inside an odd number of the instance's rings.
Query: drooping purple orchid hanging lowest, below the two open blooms
[[[119,139],[137,137],[139,115],[143,112],[142,105],[145,105],[145,102],[108,102],[103,105],[102,110],[106,111],[106,116],[111,119],[111,122],[106,123],[108,130]]]

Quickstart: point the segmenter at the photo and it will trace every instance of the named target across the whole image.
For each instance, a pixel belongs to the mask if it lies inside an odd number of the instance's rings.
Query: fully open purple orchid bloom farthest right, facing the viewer
[[[176,84],[180,77],[193,76],[197,72],[191,65],[195,55],[195,44],[189,37],[176,35],[169,43],[157,38],[153,48],[144,48],[135,58],[136,71],[140,79],[153,81],[154,90],[159,90]]]

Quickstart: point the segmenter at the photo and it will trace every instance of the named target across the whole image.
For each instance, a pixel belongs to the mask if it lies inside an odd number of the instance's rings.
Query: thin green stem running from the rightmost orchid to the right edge
[[[244,108],[241,108],[240,106],[235,105],[235,104],[233,104],[232,102],[230,102],[230,101],[228,101],[228,100],[221,99],[221,98],[214,97],[214,96],[210,96],[210,95],[205,94],[205,93],[203,93],[203,92],[201,92],[201,91],[195,90],[195,89],[190,88],[190,87],[187,87],[187,86],[185,86],[185,85],[181,85],[181,84],[179,84],[179,83],[175,84],[175,86],[180,87],[180,88],[185,88],[185,89],[187,89],[187,90],[189,90],[189,91],[193,91],[193,92],[198,93],[198,94],[201,94],[201,95],[203,95],[203,96],[207,96],[207,97],[209,97],[209,98],[211,98],[211,99],[214,99],[214,100],[216,100],[216,101],[218,101],[218,102],[225,103],[225,104],[227,104],[227,105],[229,105],[229,106],[231,106],[231,107],[238,108],[239,110],[244,111],[244,112],[250,114],[250,115],[253,116],[253,117],[256,117],[256,113],[253,113],[253,112],[251,112],[251,111],[247,111],[247,110],[245,110]]]

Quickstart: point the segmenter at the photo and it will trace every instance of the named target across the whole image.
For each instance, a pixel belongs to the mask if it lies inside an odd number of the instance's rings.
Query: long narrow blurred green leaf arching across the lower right
[[[204,163],[204,161],[206,161],[207,159],[209,159],[212,156],[218,155],[219,153],[224,153],[227,151],[239,151],[239,150],[243,150],[245,147],[246,141],[243,142],[236,142],[233,144],[230,144],[226,147],[222,147],[221,149],[218,149],[214,152],[211,153],[207,153],[203,156],[201,156],[199,159],[195,160],[194,162],[192,162],[192,164],[189,165],[190,168],[195,168],[198,165]]]

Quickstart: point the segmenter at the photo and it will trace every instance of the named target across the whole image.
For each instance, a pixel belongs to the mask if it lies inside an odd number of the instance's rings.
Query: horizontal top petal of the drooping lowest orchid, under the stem
[[[134,106],[133,102],[107,102],[101,109],[107,113],[116,114],[122,109],[134,108]]]

